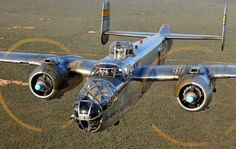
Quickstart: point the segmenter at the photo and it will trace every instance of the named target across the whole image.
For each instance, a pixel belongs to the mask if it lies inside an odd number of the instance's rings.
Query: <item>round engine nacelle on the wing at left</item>
[[[57,65],[39,66],[30,75],[31,92],[41,99],[60,98],[63,94],[78,85],[82,76],[68,73]]]

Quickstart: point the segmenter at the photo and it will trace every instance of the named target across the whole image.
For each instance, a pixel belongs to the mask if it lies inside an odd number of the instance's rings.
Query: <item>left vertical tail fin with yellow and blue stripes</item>
[[[110,1],[103,1],[102,22],[101,22],[101,42],[106,44],[109,40],[109,35],[105,34],[110,31]]]

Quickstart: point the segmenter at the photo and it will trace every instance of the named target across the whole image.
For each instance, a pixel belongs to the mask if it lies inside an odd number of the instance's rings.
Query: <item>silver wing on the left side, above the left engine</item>
[[[55,64],[82,75],[89,75],[94,64],[97,63],[96,60],[88,60],[74,55],[59,56],[54,54],[4,51],[0,51],[0,62],[35,66]]]

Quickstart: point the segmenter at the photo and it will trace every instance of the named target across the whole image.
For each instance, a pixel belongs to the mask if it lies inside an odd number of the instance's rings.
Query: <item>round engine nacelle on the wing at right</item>
[[[179,80],[174,95],[187,111],[204,110],[212,99],[213,85],[204,75],[187,75]]]

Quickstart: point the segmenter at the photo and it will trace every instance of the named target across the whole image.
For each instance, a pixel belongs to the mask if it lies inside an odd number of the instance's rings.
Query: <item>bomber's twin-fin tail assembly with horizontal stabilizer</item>
[[[110,31],[110,0],[103,0],[102,8],[102,22],[101,22],[101,43],[106,44],[109,40],[109,35],[125,36],[125,37],[140,37],[148,38],[157,34],[166,39],[176,40],[221,40],[221,50],[225,47],[226,21],[227,21],[227,7],[226,2],[224,7],[223,28],[222,35],[199,35],[199,34],[176,34],[170,32],[170,27],[166,24],[162,25],[159,33],[156,32],[129,32],[129,31]]]

